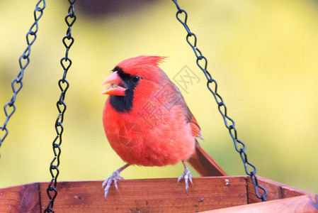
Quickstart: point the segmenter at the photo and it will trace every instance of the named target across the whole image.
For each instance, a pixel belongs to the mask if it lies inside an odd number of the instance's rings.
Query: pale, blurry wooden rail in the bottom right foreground
[[[318,197],[317,197],[318,198]],[[229,207],[225,209],[217,209],[207,211],[205,213],[317,213],[318,204],[312,200],[310,195],[302,195],[297,197],[290,197],[281,200],[272,200],[268,202],[258,202],[254,204],[246,204],[238,207]]]

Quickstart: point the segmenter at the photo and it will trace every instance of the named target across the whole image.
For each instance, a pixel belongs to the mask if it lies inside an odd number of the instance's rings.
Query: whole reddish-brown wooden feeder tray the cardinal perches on
[[[193,178],[188,195],[176,178],[119,180],[103,197],[103,181],[58,182],[55,212],[318,212],[318,195],[266,178],[268,202],[247,176]],[[228,184],[227,184],[228,183]],[[0,212],[43,212],[48,182],[0,189]]]

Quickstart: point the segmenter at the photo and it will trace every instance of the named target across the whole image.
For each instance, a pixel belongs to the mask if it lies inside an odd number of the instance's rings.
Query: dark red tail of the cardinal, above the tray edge
[[[195,141],[195,153],[187,161],[203,177],[227,176],[220,165],[217,165],[215,160],[201,148],[198,141]]]

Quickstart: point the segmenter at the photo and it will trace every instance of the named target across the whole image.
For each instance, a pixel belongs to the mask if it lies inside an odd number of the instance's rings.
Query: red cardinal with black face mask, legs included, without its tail
[[[200,126],[176,85],[158,67],[164,57],[141,55],[123,60],[103,82],[109,94],[103,126],[110,146],[127,164],[103,182],[105,198],[111,183],[129,165],[164,166],[182,162],[178,178],[192,183],[185,160],[195,153]],[[197,155],[197,154],[195,154]]]

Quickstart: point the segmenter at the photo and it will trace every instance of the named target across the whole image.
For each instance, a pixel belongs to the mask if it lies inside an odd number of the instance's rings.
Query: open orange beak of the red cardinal
[[[113,72],[106,80],[101,84],[102,86],[105,84],[109,84],[105,89],[101,92],[101,94],[112,94],[117,96],[125,96],[126,88],[120,87],[123,85],[123,80],[117,74],[117,71]]]

